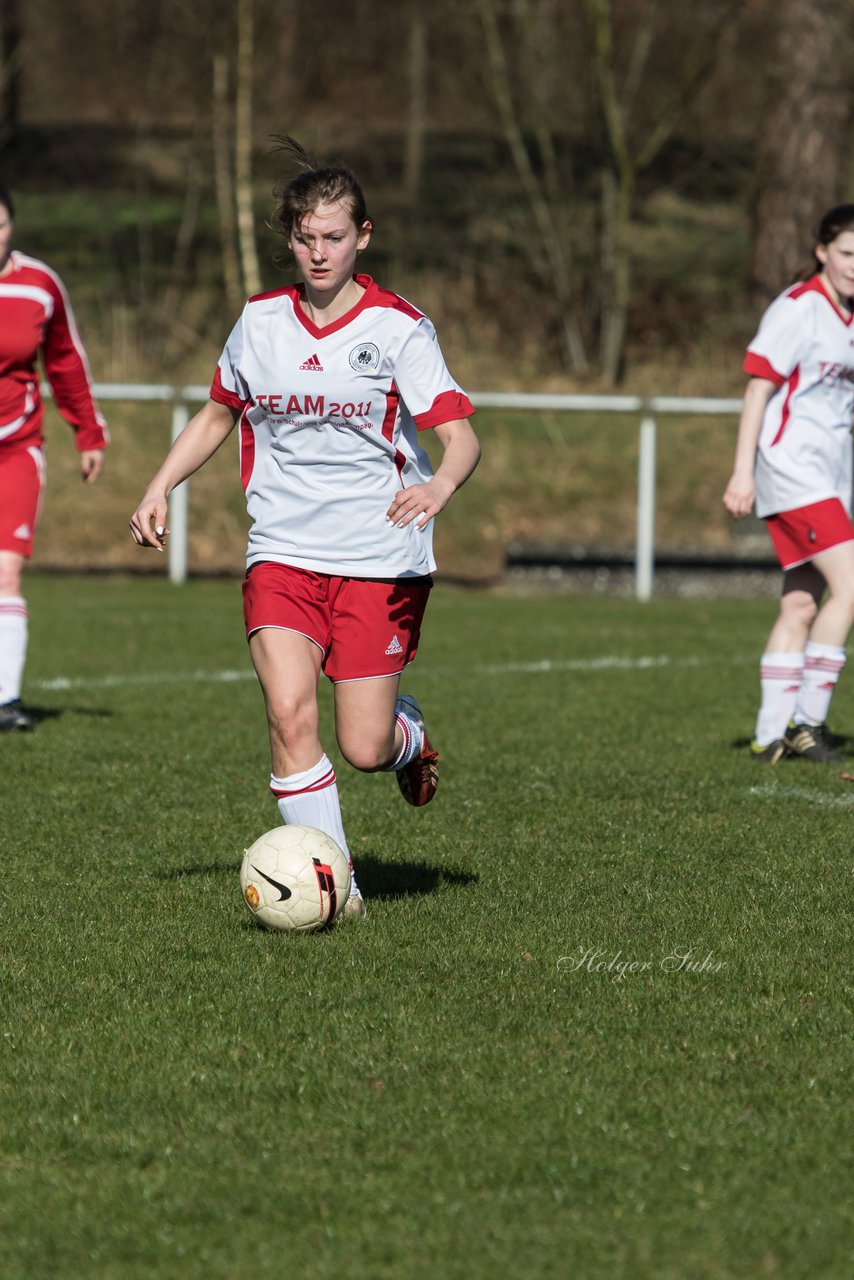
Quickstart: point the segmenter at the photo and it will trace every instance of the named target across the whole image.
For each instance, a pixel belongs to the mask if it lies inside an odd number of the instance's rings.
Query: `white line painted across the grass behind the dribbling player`
[[[475,666],[472,669],[479,676],[549,676],[562,671],[656,671],[662,667],[705,667],[717,664],[714,658],[670,658],[659,654],[654,658],[568,658],[565,660],[552,660],[544,658],[539,662],[501,662]],[[753,660],[753,659],[750,659]],[[425,668],[424,676],[430,677],[435,672]],[[456,668],[457,671],[460,668]],[[169,671],[169,672],[125,672],[120,676],[54,676],[50,680],[31,681],[35,689],[45,691],[63,691],[72,689],[123,689],[132,685],[230,685],[239,680],[255,680],[251,668],[236,671]]]

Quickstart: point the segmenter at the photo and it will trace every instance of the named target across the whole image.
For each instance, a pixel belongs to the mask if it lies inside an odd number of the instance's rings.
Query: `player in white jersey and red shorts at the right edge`
[[[734,516],[749,515],[755,498],[784,570],[750,746],[771,764],[786,754],[842,759],[826,719],[854,625],[853,308],[854,205],[840,205],[821,221],[814,274],[771,303],[748,348],[723,494]]]

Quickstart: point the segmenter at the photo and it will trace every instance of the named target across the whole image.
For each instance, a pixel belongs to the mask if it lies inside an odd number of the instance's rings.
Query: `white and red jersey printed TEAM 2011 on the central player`
[[[211,398],[241,411],[247,566],[278,561],[344,577],[430,573],[433,521],[385,522],[394,494],[433,475],[419,430],[474,413],[426,316],[367,275],[319,329],[291,287],[250,298]]]

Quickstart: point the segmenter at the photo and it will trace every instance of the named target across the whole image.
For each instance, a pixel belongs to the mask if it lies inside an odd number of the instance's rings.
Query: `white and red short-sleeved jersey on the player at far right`
[[[771,303],[744,369],[777,388],[757,447],[757,515],[826,498],[850,511],[854,325],[817,275]]]

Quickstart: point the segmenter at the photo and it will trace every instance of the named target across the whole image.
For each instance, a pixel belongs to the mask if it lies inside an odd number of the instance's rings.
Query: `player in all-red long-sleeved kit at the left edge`
[[[27,657],[20,580],[45,484],[40,355],[56,404],[74,429],[87,484],[101,474],[108,444],[63,282],[12,248],[13,218],[12,196],[0,186],[0,731],[33,727],[20,703]]]

